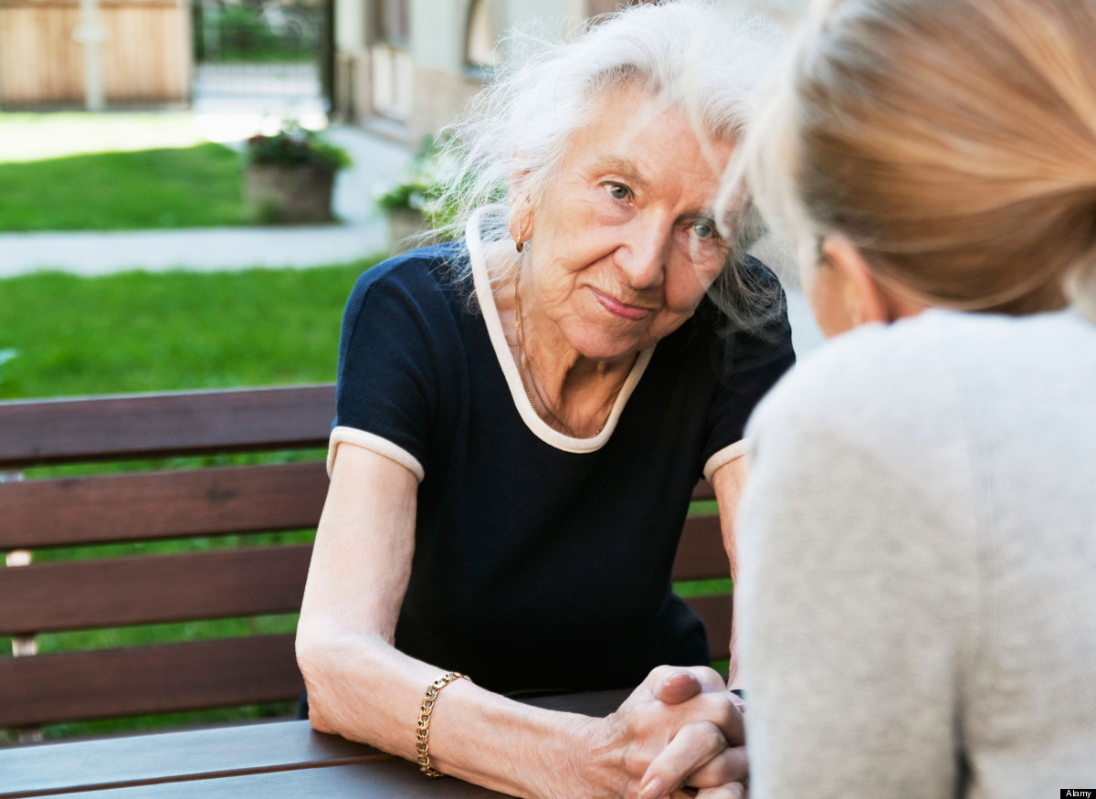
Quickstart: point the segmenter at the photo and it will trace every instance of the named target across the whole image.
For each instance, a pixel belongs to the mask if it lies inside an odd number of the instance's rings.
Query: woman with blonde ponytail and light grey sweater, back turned
[[[750,424],[754,799],[1096,783],[1094,43],[1094,0],[833,3],[751,129],[841,334]]]

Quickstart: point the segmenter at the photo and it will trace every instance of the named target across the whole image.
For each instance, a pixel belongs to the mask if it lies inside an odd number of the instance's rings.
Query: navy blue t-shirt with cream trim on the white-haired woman
[[[662,663],[708,663],[671,567],[704,465],[795,359],[786,319],[767,340],[727,332],[706,299],[640,356],[603,434],[538,433],[509,353],[509,381],[500,363],[493,299],[469,301],[449,278],[461,251],[375,266],[343,318],[333,442],[364,432],[422,475],[396,647],[503,693],[633,686]]]

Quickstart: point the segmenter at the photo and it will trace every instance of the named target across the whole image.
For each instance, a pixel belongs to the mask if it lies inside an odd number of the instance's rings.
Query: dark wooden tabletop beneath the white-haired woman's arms
[[[605,716],[627,694],[609,690],[527,701]],[[323,735],[307,721],[0,749],[0,797],[73,791],[89,799],[502,796],[459,779],[430,779],[413,763],[336,735]]]

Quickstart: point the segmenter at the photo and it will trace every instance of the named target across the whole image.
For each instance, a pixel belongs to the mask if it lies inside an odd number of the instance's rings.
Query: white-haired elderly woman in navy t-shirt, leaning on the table
[[[781,306],[751,332],[707,298],[772,282],[711,212],[772,52],[706,5],[637,8],[459,129],[465,240],[346,307],[298,632],[317,729],[517,796],[734,795],[741,715],[670,572],[701,473],[733,510],[794,357]],[[607,719],[502,696],[638,684]]]

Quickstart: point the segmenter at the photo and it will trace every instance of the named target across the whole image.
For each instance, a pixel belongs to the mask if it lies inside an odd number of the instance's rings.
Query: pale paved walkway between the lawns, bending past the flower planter
[[[333,207],[345,224],[293,228],[205,228],[137,232],[0,235],[0,277],[37,270],[98,275],[129,269],[198,271],[247,266],[317,266],[383,250],[388,233],[374,206],[380,186],[398,181],[410,150],[352,127],[328,136],[354,165],[340,173]]]

